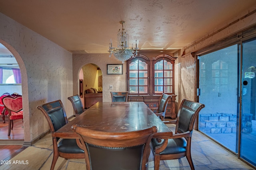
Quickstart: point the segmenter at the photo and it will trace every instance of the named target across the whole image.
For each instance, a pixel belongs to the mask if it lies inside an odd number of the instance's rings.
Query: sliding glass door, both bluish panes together
[[[256,39],[198,59],[199,130],[256,166]]]

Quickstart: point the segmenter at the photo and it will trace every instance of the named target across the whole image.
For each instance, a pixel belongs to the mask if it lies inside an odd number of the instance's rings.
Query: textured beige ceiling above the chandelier
[[[67,50],[108,53],[124,20],[130,47],[174,53],[256,0],[0,0],[0,12]],[[80,51],[81,53],[81,51]]]

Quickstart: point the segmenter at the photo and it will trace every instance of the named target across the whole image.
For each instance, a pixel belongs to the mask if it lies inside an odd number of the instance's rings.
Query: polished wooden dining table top
[[[78,138],[72,125],[106,132],[139,131],[157,127],[154,138],[170,137],[172,131],[144,102],[98,102],[52,134],[60,138]]]

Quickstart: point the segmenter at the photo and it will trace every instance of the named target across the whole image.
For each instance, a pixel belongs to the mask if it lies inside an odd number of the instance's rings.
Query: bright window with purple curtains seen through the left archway
[[[21,74],[18,65],[0,65],[0,84],[20,84]]]

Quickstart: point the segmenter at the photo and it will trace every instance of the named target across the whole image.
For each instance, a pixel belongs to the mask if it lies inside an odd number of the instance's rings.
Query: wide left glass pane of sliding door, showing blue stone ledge
[[[199,130],[237,151],[239,45],[200,56]]]

